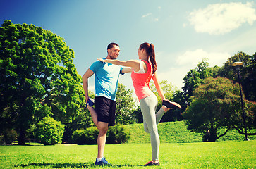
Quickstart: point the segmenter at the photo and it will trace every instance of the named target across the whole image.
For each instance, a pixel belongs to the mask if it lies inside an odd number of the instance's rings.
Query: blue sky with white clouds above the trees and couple
[[[222,66],[240,51],[256,52],[256,1],[230,0],[0,0],[0,23],[33,24],[63,37],[79,75],[106,46],[120,46],[119,60],[138,59],[143,42],[154,44],[159,80],[182,90],[183,77],[202,58]],[[232,70],[231,70],[232,71]],[[133,89],[130,74],[119,82]],[[94,77],[89,89],[94,91]]]

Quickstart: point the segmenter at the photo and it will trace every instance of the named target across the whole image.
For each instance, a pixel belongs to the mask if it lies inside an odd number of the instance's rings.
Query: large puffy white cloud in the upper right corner
[[[188,20],[194,25],[196,32],[208,32],[210,35],[220,35],[231,32],[242,23],[252,25],[256,20],[252,3],[211,4],[189,14]]]

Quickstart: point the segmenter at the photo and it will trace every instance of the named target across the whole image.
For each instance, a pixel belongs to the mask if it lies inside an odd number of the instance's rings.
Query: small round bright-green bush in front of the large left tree
[[[61,144],[64,132],[64,125],[51,117],[45,117],[37,124],[35,137],[44,145]]]

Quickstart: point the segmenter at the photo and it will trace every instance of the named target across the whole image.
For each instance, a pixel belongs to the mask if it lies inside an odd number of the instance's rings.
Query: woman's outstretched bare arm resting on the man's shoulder
[[[135,60],[119,61],[117,59],[102,59],[102,58],[99,58],[98,60],[106,63],[111,63],[114,65],[122,65],[122,66],[130,67],[130,68],[133,68],[135,72],[140,70],[140,61],[135,61]]]

